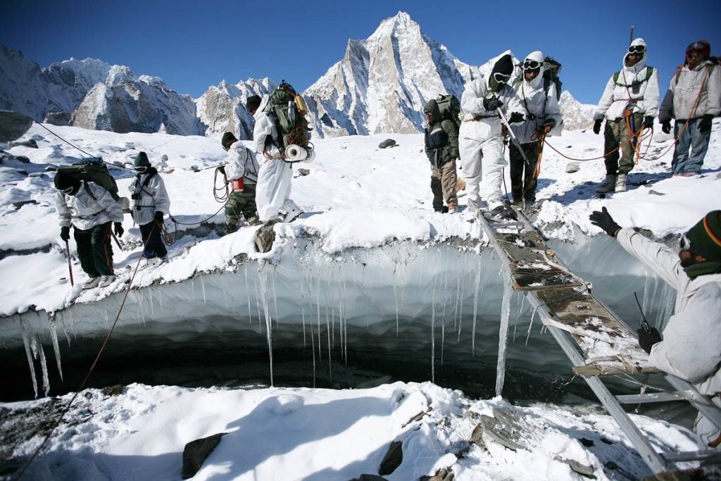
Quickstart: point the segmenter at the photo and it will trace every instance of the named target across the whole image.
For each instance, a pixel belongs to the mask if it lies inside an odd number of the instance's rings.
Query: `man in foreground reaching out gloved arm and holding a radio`
[[[663,330],[638,330],[638,343],[661,371],[691,382],[721,406],[721,211],[711,211],[681,237],[679,252],[616,224],[604,207],[591,224],[619,239],[630,255],[676,289],[676,309]],[[720,430],[700,413],[694,431],[706,446]]]

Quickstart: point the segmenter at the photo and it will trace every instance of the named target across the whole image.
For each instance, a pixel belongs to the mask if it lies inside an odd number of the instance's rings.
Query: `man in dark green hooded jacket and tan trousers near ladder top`
[[[438,102],[428,100],[423,109],[428,125],[425,128],[425,154],[430,162],[430,190],[433,193],[433,210],[455,213],[458,208],[456,196],[456,159],[458,159],[458,128],[453,120],[441,118]]]

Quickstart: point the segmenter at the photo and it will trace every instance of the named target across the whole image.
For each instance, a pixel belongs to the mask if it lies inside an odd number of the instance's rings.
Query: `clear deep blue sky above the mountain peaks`
[[[349,38],[407,12],[461,61],[480,65],[506,48],[543,50],[562,64],[564,89],[595,104],[621,67],[631,25],[660,71],[661,96],[686,45],[721,53],[721,1],[190,1],[0,0],[0,43],[40,67],[98,58],[159,76],[199,97],[226,79],[286,79],[306,89],[340,61]],[[290,32],[290,33],[288,33]]]

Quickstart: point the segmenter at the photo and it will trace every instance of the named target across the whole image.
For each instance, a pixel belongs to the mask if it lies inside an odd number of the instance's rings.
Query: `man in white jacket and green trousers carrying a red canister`
[[[251,226],[258,223],[255,186],[260,166],[255,158],[255,152],[239,142],[233,133],[224,133],[221,144],[228,151],[228,163],[218,169],[227,176],[232,187],[225,207],[226,234],[230,234],[238,230],[241,215]]]

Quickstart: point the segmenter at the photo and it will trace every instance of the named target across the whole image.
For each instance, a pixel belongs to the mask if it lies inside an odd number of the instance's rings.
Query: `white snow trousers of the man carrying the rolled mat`
[[[265,160],[258,170],[258,182],[255,185],[255,205],[258,218],[265,222],[277,219],[281,211],[286,214],[298,213],[301,209],[291,196],[293,164],[283,160]]]

